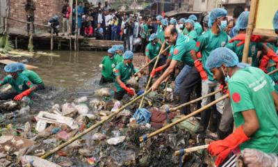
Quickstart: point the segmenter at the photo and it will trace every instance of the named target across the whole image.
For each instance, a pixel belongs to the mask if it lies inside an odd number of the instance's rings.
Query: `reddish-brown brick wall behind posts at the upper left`
[[[35,2],[35,22],[47,24],[50,17],[58,15],[62,20],[62,7],[65,0],[33,0]],[[25,8],[26,0],[10,0],[10,17],[26,21]],[[61,22],[60,22],[61,23]],[[26,31],[26,24],[9,20],[9,29]],[[42,26],[35,26],[35,31],[45,32],[47,29]]]

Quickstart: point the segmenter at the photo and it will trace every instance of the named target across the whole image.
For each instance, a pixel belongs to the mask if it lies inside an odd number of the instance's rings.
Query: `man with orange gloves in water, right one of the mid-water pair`
[[[122,100],[124,94],[128,93],[129,95],[134,95],[134,90],[126,86],[126,82],[134,77],[136,72],[133,66],[133,52],[126,51],[124,52],[124,61],[117,64],[115,67],[115,95],[116,100]]]

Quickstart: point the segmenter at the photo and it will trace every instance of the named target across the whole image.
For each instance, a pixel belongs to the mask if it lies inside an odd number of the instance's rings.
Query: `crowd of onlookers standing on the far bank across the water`
[[[62,35],[74,34],[76,31],[77,14],[77,33],[85,37],[95,37],[98,40],[121,40],[124,41],[126,49],[134,51],[145,51],[144,42],[152,33],[156,33],[157,24],[155,17],[141,17],[133,13],[128,14],[116,11],[111,8],[106,1],[104,6],[98,3],[97,7],[92,3],[79,2],[77,12],[75,3],[70,8],[68,1],[63,6],[63,27]],[[72,12],[72,29],[69,29],[70,13]],[[147,25],[147,32],[143,26]],[[56,31],[59,27],[57,26]],[[55,27],[54,27],[54,33]],[[143,47],[140,45],[142,44]],[[133,47],[134,46],[134,47]]]

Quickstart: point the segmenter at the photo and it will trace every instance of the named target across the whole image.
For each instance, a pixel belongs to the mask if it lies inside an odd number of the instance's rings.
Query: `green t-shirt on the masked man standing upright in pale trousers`
[[[218,47],[224,47],[228,42],[228,35],[224,31],[220,31],[218,35],[211,32],[211,29],[206,31],[203,35],[197,39],[198,51],[202,54],[202,63],[206,74],[208,74],[208,80],[214,81],[213,74],[209,69],[206,69],[206,59],[208,58],[211,51]]]

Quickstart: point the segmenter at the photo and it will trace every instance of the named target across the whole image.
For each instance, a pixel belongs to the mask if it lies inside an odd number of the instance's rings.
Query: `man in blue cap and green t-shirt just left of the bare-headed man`
[[[152,33],[152,35],[149,36],[149,44],[146,47],[146,52],[145,52],[145,63],[149,63],[155,56],[159,54],[159,51],[161,50],[161,44],[157,42],[157,35],[155,33]],[[152,72],[152,69],[154,68],[154,63],[149,64],[149,73]],[[157,66],[163,65],[162,64],[162,58],[160,56],[158,60]]]

